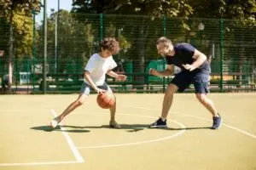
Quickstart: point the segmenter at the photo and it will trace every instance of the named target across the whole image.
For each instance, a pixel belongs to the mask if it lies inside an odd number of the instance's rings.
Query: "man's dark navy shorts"
[[[195,94],[207,94],[209,93],[208,80],[209,73],[201,71],[181,71],[172,79],[171,83],[177,86],[178,92],[183,92],[193,83]]]

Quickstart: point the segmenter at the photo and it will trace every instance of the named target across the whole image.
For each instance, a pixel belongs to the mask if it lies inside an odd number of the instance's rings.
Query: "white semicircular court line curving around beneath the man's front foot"
[[[119,115],[156,118],[154,116],[133,115],[133,114],[125,114],[125,113],[119,114]],[[172,139],[172,138],[175,138],[175,137],[181,135],[182,133],[184,133],[186,131],[185,130],[186,127],[182,123],[176,122],[176,121],[169,121],[169,122],[177,123],[180,127],[184,128],[184,129],[181,130],[179,133],[175,133],[175,134],[172,134],[171,136],[167,136],[165,138],[160,138],[160,139],[151,139],[151,140],[145,140],[145,141],[140,141],[140,142],[126,143],[126,144],[104,144],[104,145],[98,145],[98,146],[81,146],[81,147],[77,147],[77,149],[79,149],[79,150],[81,150],[81,149],[96,149],[96,148],[110,148],[110,147],[127,146],[127,145],[135,145],[135,144],[147,144],[147,143],[159,142],[159,141],[166,140],[166,139]],[[137,128],[139,128],[139,127],[137,127]],[[143,129],[145,129],[145,128],[146,127],[143,127]]]

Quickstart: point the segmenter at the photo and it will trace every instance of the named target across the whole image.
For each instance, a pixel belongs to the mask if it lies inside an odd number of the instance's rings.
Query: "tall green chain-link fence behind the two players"
[[[58,20],[56,20],[58,19]],[[32,54],[13,56],[14,90],[42,93],[44,86],[43,24],[34,19]],[[172,42],[189,42],[204,54],[212,65],[212,91],[255,91],[256,28],[236,20],[166,18],[113,14],[71,14],[61,10],[48,19],[47,93],[78,93],[83,71],[91,54],[98,50],[103,37],[117,37],[123,50],[114,56],[115,71],[125,72],[127,82],[107,82],[117,92],[162,93],[172,77],[152,77],[148,68],[163,70],[165,60],[156,53],[155,41],[166,36]],[[9,25],[1,20],[0,76],[8,73]],[[193,88],[193,87],[191,87]]]

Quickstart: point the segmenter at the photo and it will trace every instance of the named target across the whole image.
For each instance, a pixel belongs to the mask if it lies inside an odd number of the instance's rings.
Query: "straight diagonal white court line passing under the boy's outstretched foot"
[[[56,117],[57,114],[55,112],[55,110],[51,110],[52,114]],[[61,123],[59,123],[61,125]],[[80,155],[79,150],[76,149],[76,146],[73,144],[72,139],[68,136],[68,134],[65,132],[66,129],[65,127],[61,127],[61,133],[63,133],[64,137],[67,139],[67,144],[69,145],[69,147],[71,148],[73,155],[75,156],[76,160],[78,162],[84,162],[83,157]]]

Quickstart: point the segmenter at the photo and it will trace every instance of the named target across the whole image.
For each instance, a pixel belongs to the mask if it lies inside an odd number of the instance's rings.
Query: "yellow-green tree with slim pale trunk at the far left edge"
[[[20,51],[27,52],[27,45],[32,42],[32,11],[39,12],[40,7],[40,0],[0,0],[0,18],[9,24],[9,90],[13,79],[14,37],[17,35],[24,43]]]

